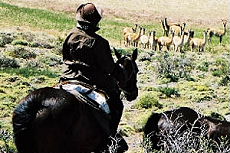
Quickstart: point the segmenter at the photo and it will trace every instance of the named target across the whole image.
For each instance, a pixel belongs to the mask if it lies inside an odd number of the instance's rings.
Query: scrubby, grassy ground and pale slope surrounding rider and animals
[[[0,1],[0,150],[8,148],[15,152],[11,117],[19,100],[30,91],[58,82],[63,66],[60,51],[66,35],[76,24],[74,12],[80,2]],[[167,17],[170,22],[186,22],[186,30],[193,29],[195,37],[202,38],[208,27],[223,29],[221,19],[230,19],[228,0],[93,2],[105,10],[99,34],[123,53],[130,53],[134,47],[123,45],[122,29],[135,23],[148,32],[156,30],[159,37],[163,34],[160,19]],[[229,118],[228,25],[222,44],[214,37],[205,52],[190,51],[189,47],[182,53],[139,47],[139,96],[133,102],[124,100],[119,126],[130,146],[128,152],[144,152],[142,127],[152,111],[188,106],[206,115]]]

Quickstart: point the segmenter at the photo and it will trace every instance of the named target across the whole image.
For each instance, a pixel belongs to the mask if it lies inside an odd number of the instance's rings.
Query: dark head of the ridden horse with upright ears
[[[132,101],[138,96],[137,88],[137,64],[135,60],[137,59],[137,49],[135,49],[132,55],[122,56],[115,50],[115,55],[117,57],[116,66],[122,71],[122,76],[118,76],[118,86],[125,94],[128,101]]]

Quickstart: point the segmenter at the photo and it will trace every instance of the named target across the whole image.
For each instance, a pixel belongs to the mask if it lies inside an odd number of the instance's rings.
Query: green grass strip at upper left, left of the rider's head
[[[19,7],[3,2],[0,2],[0,8],[0,21],[10,22],[13,26],[32,26],[64,31],[75,25],[74,19],[66,13]]]

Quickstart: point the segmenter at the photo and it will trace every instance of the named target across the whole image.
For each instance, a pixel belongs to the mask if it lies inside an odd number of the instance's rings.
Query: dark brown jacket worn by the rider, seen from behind
[[[74,78],[81,74],[98,88],[107,89],[115,86],[113,72],[115,63],[107,40],[94,32],[86,32],[81,28],[74,29],[63,44],[63,60],[73,73],[66,75]],[[74,64],[78,63],[79,67]]]

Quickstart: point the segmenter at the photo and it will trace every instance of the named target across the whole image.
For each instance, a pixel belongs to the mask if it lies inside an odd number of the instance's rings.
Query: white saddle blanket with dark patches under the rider
[[[79,84],[64,84],[62,85],[62,88],[73,95],[75,95],[75,92],[84,94],[90,90]],[[106,114],[110,113],[109,105],[104,94],[92,90],[90,93],[86,94],[86,96],[97,102],[99,104],[99,108],[101,108]]]

